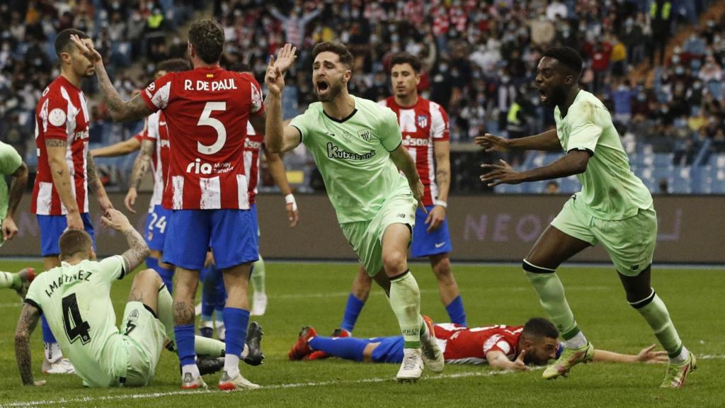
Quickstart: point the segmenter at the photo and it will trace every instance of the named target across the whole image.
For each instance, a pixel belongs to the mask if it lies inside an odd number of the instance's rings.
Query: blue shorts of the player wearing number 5
[[[163,261],[200,271],[209,247],[219,269],[257,261],[253,226],[249,210],[175,210],[168,222]]]

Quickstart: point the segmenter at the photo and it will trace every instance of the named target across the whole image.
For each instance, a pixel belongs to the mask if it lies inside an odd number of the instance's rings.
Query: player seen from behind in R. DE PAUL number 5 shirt
[[[183,389],[205,387],[194,360],[194,295],[211,246],[228,293],[224,320],[226,356],[222,390],[259,388],[239,372],[249,322],[249,263],[257,260],[257,231],[249,211],[248,175],[242,145],[247,121],[263,131],[262,91],[246,73],[223,70],[224,31],[198,20],[188,31],[194,69],[169,73],[125,102],[108,78],[93,44],[78,41],[94,63],[101,92],[115,121],[133,121],[163,110],[171,144],[164,208],[168,223],[163,261],[175,265],[175,337]]]

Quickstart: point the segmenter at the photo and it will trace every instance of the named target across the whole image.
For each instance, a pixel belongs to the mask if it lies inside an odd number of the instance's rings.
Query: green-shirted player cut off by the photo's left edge
[[[25,191],[25,185],[28,184],[28,166],[22,163],[22,158],[12,146],[3,142],[0,142],[0,176],[2,177],[0,180],[0,224],[2,226],[0,246],[2,246],[4,241],[12,240],[17,234],[14,215],[17,205],[20,204],[22,192]],[[6,177],[12,177],[9,192],[5,182]],[[32,268],[25,268],[14,274],[0,271],[0,288],[12,289],[21,298],[24,298],[25,291],[28,290],[28,285],[35,276]]]

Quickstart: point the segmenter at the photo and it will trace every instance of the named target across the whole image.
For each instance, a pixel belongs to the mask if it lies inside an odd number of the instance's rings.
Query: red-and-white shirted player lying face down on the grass
[[[446,364],[486,364],[501,370],[529,371],[529,364],[544,365],[558,358],[563,350],[559,331],[547,319],[534,317],[523,326],[494,325],[463,327],[452,323],[426,325],[436,333]],[[655,345],[638,354],[618,354],[596,350],[596,362],[667,362],[666,351],[653,351]],[[402,336],[377,338],[322,337],[307,326],[289,352],[289,359],[307,359],[312,351],[356,362],[399,363],[403,358]]]

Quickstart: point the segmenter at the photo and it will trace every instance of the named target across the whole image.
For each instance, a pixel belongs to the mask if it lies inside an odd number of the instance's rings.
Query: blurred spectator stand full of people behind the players
[[[486,190],[478,166],[492,157],[472,147],[473,136],[484,131],[522,136],[552,125],[532,79],[543,49],[573,46],[585,57],[582,86],[605,100],[632,168],[653,192],[665,192],[661,187],[669,193],[725,192],[725,5],[711,0],[11,0],[0,5],[1,139],[33,166],[33,109],[55,75],[58,30],[73,26],[91,33],[115,82],[130,94],[145,86],[156,62],[183,56],[186,41],[178,33],[185,30],[176,28],[195,11],[223,24],[225,63],[247,63],[260,81],[269,54],[286,41],[299,46],[283,101],[289,116],[314,99],[309,67],[315,42],[349,44],[356,57],[350,91],[370,99],[389,93],[390,54],[419,55],[421,94],[450,115],[452,192],[460,193]],[[91,142],[133,136],[141,125],[112,124],[94,86],[87,81],[85,89]],[[554,157],[531,153],[508,159],[529,168]],[[301,191],[320,188],[311,161],[304,150],[285,158],[301,174]],[[109,183],[125,188],[132,163],[133,156],[102,159],[99,168]],[[544,188],[540,182],[496,191]],[[560,182],[561,192],[578,188],[575,179]]]

